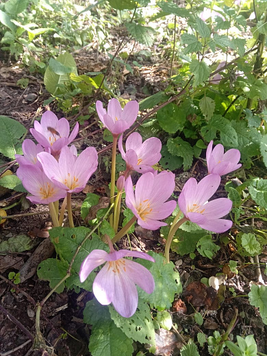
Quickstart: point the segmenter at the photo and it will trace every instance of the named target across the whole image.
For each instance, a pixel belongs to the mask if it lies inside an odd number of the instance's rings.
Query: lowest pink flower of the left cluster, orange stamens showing
[[[32,194],[27,196],[31,203],[49,204],[66,196],[66,189],[55,186],[37,165],[23,164],[16,171],[16,175],[21,179],[24,188]]]

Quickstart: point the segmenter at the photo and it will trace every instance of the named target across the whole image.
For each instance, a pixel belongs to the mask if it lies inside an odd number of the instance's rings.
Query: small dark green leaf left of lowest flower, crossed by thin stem
[[[66,276],[68,270],[68,262],[60,261],[60,259],[49,258],[44,259],[37,269],[38,278],[42,281],[49,281],[49,287],[51,289],[55,288],[62,278]],[[65,288],[65,284],[62,283],[55,292],[62,293]]]

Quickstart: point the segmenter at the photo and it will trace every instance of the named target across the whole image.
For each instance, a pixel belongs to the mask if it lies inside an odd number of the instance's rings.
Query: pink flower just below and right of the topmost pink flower
[[[142,136],[138,132],[133,132],[125,142],[126,153],[123,149],[123,135],[118,140],[118,149],[126,161],[129,169],[140,173],[151,172],[154,164],[159,162],[162,155],[162,142],[155,137],[151,137],[142,143]]]

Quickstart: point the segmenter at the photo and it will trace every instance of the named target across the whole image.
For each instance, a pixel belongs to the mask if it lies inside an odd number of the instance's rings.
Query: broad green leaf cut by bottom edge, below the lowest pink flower
[[[133,340],[110,322],[99,322],[92,328],[89,351],[92,356],[131,356],[133,355]]]

